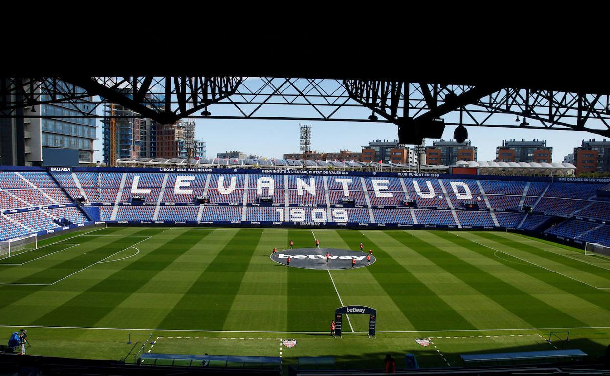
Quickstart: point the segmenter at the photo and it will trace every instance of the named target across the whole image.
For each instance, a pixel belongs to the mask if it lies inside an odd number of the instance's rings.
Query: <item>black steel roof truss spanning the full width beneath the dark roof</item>
[[[91,104],[87,111],[75,105],[82,102]],[[109,102],[163,124],[184,117],[373,121],[392,122],[417,137],[431,137],[427,136],[426,127],[444,118],[448,125],[582,130],[610,137],[610,96],[599,93],[306,77],[0,79],[1,117],[18,116],[18,108],[61,103],[78,110],[77,115],[68,118],[107,118],[108,114],[98,107]],[[282,111],[285,106],[290,106],[291,111]]]

